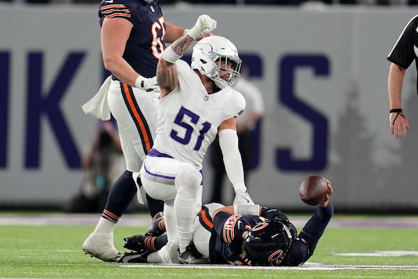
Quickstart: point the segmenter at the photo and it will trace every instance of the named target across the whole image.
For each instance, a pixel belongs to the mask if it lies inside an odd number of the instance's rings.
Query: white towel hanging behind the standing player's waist
[[[109,91],[110,84],[111,76],[104,80],[98,93],[96,93],[87,103],[82,105],[85,114],[90,114],[91,116],[102,120],[110,119],[110,108],[107,103],[107,92]]]

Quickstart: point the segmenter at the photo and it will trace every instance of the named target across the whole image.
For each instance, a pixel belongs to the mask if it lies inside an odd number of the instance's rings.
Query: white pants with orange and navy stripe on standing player
[[[126,169],[139,172],[146,153],[153,146],[157,126],[158,91],[146,92],[112,80],[107,103],[118,123]]]

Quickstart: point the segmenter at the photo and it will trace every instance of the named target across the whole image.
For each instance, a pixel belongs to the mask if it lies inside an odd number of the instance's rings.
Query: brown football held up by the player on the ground
[[[317,175],[308,176],[299,187],[299,197],[302,202],[312,206],[318,205],[328,193],[327,181]]]

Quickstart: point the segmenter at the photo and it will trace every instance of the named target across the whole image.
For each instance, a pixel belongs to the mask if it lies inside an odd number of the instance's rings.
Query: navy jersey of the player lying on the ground
[[[231,215],[226,212],[219,212],[213,220],[212,235],[209,244],[209,259],[212,264],[236,264],[253,265],[242,252],[242,240],[245,234],[256,223],[263,222],[265,217],[286,218],[284,213],[277,209],[264,210],[264,217],[251,215]],[[332,215],[334,206],[330,201],[327,208],[317,206],[316,213],[304,225],[302,232],[293,240],[288,256],[280,262],[279,266],[300,266],[311,257],[316,244],[327,227]],[[263,216],[263,211],[262,211]]]

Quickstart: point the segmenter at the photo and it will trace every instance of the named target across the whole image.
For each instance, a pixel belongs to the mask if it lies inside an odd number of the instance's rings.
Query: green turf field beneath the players
[[[1,223],[0,278],[418,278],[418,225],[408,221],[418,224],[418,218],[392,217],[387,226],[382,225],[385,218],[378,218],[379,225],[373,225],[373,218],[366,218],[371,227],[351,220],[357,219],[334,216],[314,256],[304,266],[291,269],[101,262],[84,255],[81,249],[95,223]],[[408,225],[397,224],[397,220],[407,220]],[[338,221],[343,221],[343,227]],[[144,225],[119,225],[115,231],[116,248],[125,251],[123,237],[145,231]]]

